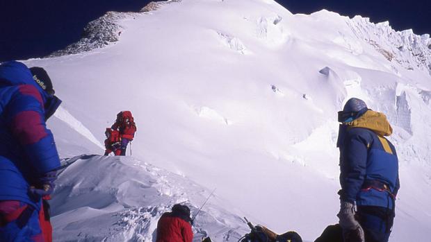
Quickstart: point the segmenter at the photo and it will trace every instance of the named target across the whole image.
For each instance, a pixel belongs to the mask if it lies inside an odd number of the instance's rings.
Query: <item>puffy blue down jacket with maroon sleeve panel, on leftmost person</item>
[[[51,99],[24,64],[0,65],[0,200],[19,200],[39,209],[40,198],[29,196],[29,187],[60,166],[44,117],[52,111],[45,110]]]

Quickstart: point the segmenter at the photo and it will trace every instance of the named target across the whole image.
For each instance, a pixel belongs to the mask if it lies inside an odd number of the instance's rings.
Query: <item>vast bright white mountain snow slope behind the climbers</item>
[[[64,101],[49,121],[62,157],[101,154],[104,128],[131,110],[137,160],[217,187],[238,217],[312,241],[337,221],[336,111],[356,96],[394,128],[391,241],[427,241],[429,36],[326,10],[292,15],[273,0],[170,1],[117,24],[119,41],[105,48],[26,62],[49,70]]]

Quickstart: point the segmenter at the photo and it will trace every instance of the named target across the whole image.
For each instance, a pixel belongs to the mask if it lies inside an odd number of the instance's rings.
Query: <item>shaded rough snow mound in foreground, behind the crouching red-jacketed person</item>
[[[132,157],[83,155],[63,164],[67,168],[51,201],[56,241],[154,241],[161,214],[179,202],[196,214],[211,193]],[[247,232],[222,202],[215,195],[202,209],[193,225],[194,241],[202,236],[238,241]]]

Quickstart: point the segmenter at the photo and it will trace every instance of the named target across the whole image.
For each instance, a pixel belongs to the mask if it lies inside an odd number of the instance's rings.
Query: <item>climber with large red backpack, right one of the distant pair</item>
[[[136,132],[136,124],[133,121],[133,116],[130,111],[122,111],[117,114],[117,119],[111,127],[112,130],[116,130],[120,133],[120,149],[115,152],[115,155],[126,155],[127,144],[133,140]]]

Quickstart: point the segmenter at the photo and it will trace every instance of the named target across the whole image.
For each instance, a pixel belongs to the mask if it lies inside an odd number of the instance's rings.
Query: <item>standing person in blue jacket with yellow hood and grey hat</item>
[[[339,112],[341,209],[345,242],[387,242],[400,188],[398,157],[385,137],[392,128],[384,114],[350,98]],[[357,210],[355,211],[355,205]]]

